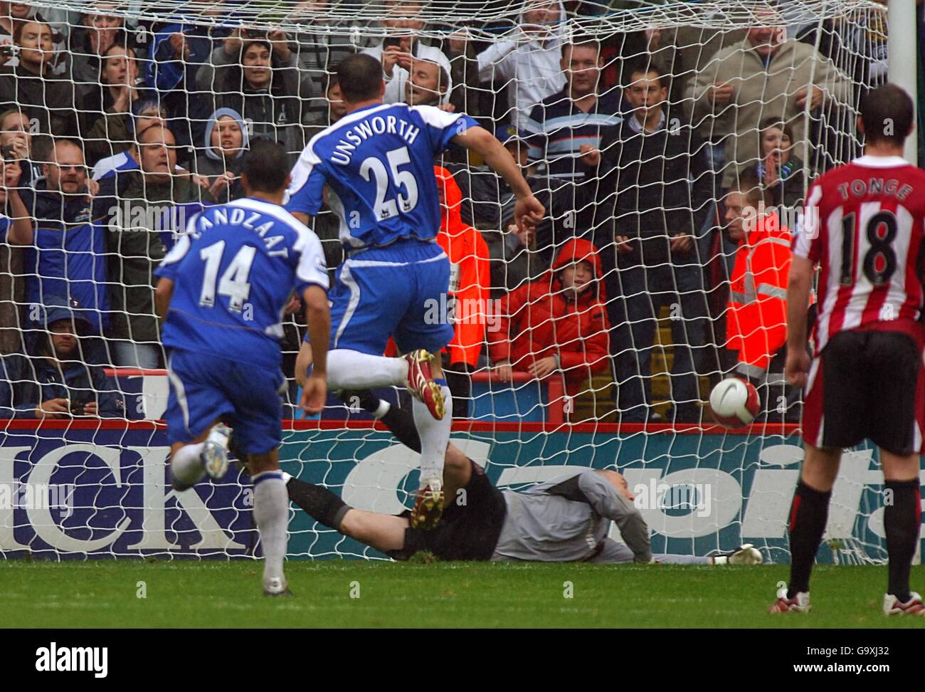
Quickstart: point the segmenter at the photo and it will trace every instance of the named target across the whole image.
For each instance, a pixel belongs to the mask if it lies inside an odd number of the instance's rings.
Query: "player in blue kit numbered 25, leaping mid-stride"
[[[443,506],[443,461],[452,402],[438,353],[453,336],[446,305],[450,261],[434,237],[440,206],[434,157],[450,144],[480,154],[517,197],[518,225],[545,209],[511,154],[471,117],[431,105],[383,104],[382,65],[364,54],[338,68],[347,114],[315,135],[292,170],[286,208],[308,222],[328,204],[340,217],[347,258],[331,291],[331,389],[406,386],[421,438],[421,485],[412,525],[435,525]],[[441,296],[444,296],[441,300]],[[403,358],[386,358],[388,338]]]

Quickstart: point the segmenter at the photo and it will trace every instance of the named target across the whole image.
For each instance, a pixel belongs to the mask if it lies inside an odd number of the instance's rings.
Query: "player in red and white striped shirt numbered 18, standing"
[[[809,610],[809,574],[842,450],[871,439],[880,450],[890,558],[883,612],[925,615],[909,589],[921,521],[917,404],[925,342],[925,171],[902,158],[914,114],[912,99],[894,84],[868,93],[857,118],[864,155],[813,183],[795,234],[785,373],[804,388],[806,456],[790,511],[790,583],[771,612]],[[810,356],[807,304],[816,266],[819,316]]]

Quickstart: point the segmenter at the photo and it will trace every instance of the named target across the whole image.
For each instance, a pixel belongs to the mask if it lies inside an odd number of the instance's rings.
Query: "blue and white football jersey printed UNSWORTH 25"
[[[440,229],[434,156],[478,123],[432,105],[370,105],[315,135],[292,169],[286,208],[314,216],[327,183],[348,248],[427,241]]]

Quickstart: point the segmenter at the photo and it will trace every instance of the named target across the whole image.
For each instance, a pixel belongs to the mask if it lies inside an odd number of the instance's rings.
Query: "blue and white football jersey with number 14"
[[[314,232],[277,204],[242,199],[193,216],[155,272],[174,282],[164,345],[278,368],[290,293],[328,288]]]

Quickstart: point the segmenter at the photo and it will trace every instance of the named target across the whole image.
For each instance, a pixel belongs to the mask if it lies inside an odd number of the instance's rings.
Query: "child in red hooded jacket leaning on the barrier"
[[[574,396],[588,378],[611,368],[611,328],[598,248],[576,238],[562,246],[552,268],[502,301],[499,329],[489,330],[500,377],[526,371],[541,379],[561,372]]]

